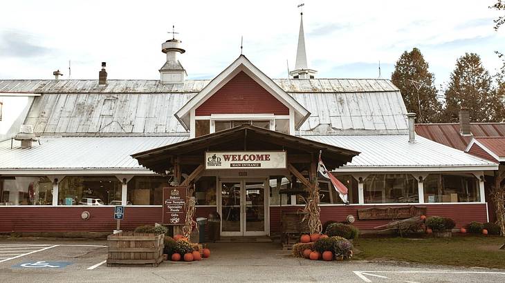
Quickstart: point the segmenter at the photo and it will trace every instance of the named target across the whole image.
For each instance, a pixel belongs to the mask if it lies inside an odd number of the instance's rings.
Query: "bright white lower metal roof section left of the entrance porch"
[[[1,169],[143,169],[134,153],[167,144],[174,144],[187,137],[47,137],[40,145],[20,148],[10,139],[0,142]]]

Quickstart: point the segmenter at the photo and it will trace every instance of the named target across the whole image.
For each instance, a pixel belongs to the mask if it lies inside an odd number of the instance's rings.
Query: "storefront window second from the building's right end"
[[[417,180],[410,174],[369,175],[363,191],[365,204],[419,202]]]

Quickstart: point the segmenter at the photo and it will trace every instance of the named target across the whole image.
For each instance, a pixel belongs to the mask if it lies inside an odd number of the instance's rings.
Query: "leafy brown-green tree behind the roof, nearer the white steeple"
[[[410,52],[403,52],[396,61],[391,77],[403,95],[407,111],[416,113],[419,123],[437,122],[442,108],[437,100],[434,75],[428,71],[428,67],[421,50],[413,48]]]

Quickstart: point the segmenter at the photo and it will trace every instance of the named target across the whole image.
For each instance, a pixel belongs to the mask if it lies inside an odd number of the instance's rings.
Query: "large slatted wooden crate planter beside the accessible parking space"
[[[109,235],[107,266],[116,264],[152,264],[163,262],[165,235],[123,232]]]

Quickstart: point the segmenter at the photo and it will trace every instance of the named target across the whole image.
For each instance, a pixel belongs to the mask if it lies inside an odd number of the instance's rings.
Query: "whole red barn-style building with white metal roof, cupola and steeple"
[[[123,229],[160,223],[172,183],[192,188],[196,216],[221,215],[221,235],[275,235],[281,213],[303,208],[320,152],[350,202],[319,179],[322,222],[353,215],[374,230],[394,217],[367,208],[488,221],[496,161],[416,137],[387,79],[317,78],[302,23],[300,35],[290,79],[244,55],[214,79],[187,79],[170,39],[160,80],[107,79],[105,66],[99,80],[0,80],[1,96],[29,96],[0,136],[0,233],[112,231],[119,204]]]

